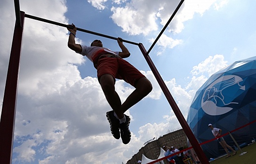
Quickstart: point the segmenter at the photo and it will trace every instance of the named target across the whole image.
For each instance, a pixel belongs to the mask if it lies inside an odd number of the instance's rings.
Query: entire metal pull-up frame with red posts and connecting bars
[[[182,128],[184,129],[186,136],[188,137],[195,152],[197,153],[199,160],[203,164],[209,164],[207,157],[203,153],[194,134],[192,133],[189,126],[187,125],[185,118],[183,117],[182,113],[180,112],[180,110],[178,108],[178,105],[176,104],[175,100],[171,96],[169,89],[165,85],[161,75],[157,71],[153,61],[150,59],[150,57],[148,55],[148,53],[151,51],[151,49],[153,48],[153,46],[155,45],[157,40],[163,34],[163,31],[167,28],[168,24],[171,22],[174,15],[178,12],[178,9],[182,5],[183,1],[184,0],[180,1],[180,3],[178,4],[178,7],[174,11],[174,13],[171,15],[171,18],[169,19],[167,24],[164,26],[163,30],[160,32],[160,34],[156,38],[153,45],[150,47],[149,51],[146,51],[146,49],[144,48],[144,46],[141,43],[138,44],[138,43],[134,43],[134,42],[127,41],[127,40],[123,40],[123,42],[139,46],[140,51],[142,52],[143,56],[145,57],[145,59],[147,61],[147,64],[151,68],[153,74],[155,75],[157,82],[159,83],[161,89],[163,90],[165,97],[167,98],[169,104],[171,105],[173,112],[175,113],[179,123],[181,124]],[[11,164],[11,162],[12,162],[12,147],[13,147],[15,116],[16,116],[16,96],[17,96],[17,84],[18,84],[18,71],[19,71],[19,63],[20,63],[24,17],[35,19],[35,20],[42,21],[42,22],[55,24],[55,25],[62,26],[62,27],[67,27],[66,24],[50,21],[50,20],[39,18],[39,17],[32,16],[32,15],[26,15],[22,11],[18,12],[18,10],[19,10],[19,0],[15,0],[16,25],[15,25],[15,30],[14,30],[11,54],[10,54],[8,75],[7,75],[6,88],[5,88],[5,93],[4,93],[4,100],[3,100],[3,107],[2,107],[2,114],[1,114],[1,121],[0,121],[0,138],[1,138],[0,163],[1,164],[8,164],[8,163]],[[80,28],[77,28],[77,30],[83,31],[86,33],[90,33],[93,35],[98,35],[101,37],[107,37],[107,38],[115,39],[115,40],[117,39],[116,37],[111,37],[108,35],[100,34],[100,33],[89,31],[89,30],[84,30],[84,29],[80,29]]]

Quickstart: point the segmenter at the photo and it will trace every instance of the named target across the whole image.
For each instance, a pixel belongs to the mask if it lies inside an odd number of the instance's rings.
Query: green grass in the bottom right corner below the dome
[[[240,156],[242,152],[247,152]],[[210,161],[210,164],[256,164],[256,143],[242,148],[242,152],[237,150],[235,156],[225,158],[220,157],[214,161]]]

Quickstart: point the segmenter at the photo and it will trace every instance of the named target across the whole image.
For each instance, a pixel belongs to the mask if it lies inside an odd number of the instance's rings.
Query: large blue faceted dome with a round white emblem
[[[187,123],[199,142],[213,139],[209,124],[232,133],[238,144],[256,138],[256,57],[239,60],[212,75],[195,94]],[[251,124],[250,124],[251,123]],[[230,135],[224,136],[233,147]],[[202,145],[208,158],[225,154],[217,142]]]

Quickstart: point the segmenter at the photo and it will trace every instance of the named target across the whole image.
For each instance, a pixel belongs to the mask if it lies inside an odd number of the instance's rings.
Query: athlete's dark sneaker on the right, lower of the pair
[[[127,144],[131,141],[131,132],[129,130],[129,125],[130,125],[131,119],[129,116],[126,116],[125,114],[124,114],[124,116],[126,118],[126,121],[121,123],[119,125],[119,128],[120,128],[122,141],[124,144]]]

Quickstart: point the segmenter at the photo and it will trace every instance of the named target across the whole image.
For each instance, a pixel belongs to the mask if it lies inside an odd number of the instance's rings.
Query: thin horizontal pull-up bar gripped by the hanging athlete
[[[50,24],[55,24],[55,25],[58,25],[58,26],[66,27],[66,28],[68,27],[67,24],[50,21],[50,20],[47,20],[47,19],[43,19],[43,18],[33,16],[33,15],[26,14],[25,17],[31,18],[31,19],[34,19],[34,20],[38,20],[38,21],[41,21],[41,22],[47,22],[47,23],[50,23]],[[101,34],[101,33],[93,32],[93,31],[89,31],[89,30],[85,30],[85,29],[77,28],[77,30],[82,31],[82,32],[86,32],[86,33],[89,33],[89,34],[98,35],[98,36],[101,36],[101,37],[107,37],[107,38],[110,38],[110,39],[117,40],[117,37],[111,37],[111,36],[108,36],[108,35],[104,35],[104,34]],[[131,42],[131,41],[124,40],[124,39],[122,41],[125,42],[125,43],[132,44],[132,45],[139,45],[139,43]]]

